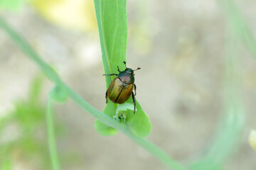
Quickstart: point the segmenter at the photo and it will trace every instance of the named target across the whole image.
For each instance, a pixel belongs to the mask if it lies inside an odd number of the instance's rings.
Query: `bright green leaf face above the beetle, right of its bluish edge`
[[[127,51],[127,1],[101,1],[102,33],[111,73],[124,69]]]

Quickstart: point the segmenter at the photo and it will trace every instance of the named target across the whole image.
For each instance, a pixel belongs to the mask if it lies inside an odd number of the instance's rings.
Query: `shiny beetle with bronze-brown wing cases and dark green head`
[[[136,85],[134,84],[134,71],[141,69],[131,69],[127,68],[126,62],[124,62],[124,66],[126,69],[124,71],[120,71],[119,67],[117,66],[117,71],[119,74],[103,74],[103,76],[117,76],[112,80],[109,88],[106,91],[106,103],[107,97],[110,98],[110,101],[114,103],[124,103],[128,100],[129,96],[132,94],[132,100],[134,103],[134,113],[136,110]],[[134,89],[134,92],[133,92]]]

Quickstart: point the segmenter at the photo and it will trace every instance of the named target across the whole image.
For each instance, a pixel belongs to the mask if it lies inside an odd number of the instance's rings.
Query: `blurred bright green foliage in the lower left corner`
[[[36,78],[28,99],[17,101],[14,111],[0,120],[0,165],[10,169],[12,162],[36,162],[36,169],[48,169],[47,145],[42,127],[45,108],[39,100],[42,79]]]

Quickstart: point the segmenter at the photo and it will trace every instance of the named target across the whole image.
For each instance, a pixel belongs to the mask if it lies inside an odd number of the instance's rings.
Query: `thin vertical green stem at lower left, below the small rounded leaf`
[[[48,95],[47,112],[46,112],[46,128],[48,137],[48,147],[50,153],[50,162],[53,170],[59,170],[60,164],[58,162],[58,153],[56,149],[55,135],[54,135],[54,121],[53,121],[53,101]]]

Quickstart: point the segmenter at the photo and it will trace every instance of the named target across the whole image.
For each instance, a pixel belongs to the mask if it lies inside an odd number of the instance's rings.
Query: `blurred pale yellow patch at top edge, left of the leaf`
[[[75,30],[96,30],[92,0],[34,0],[36,10],[46,20]]]

